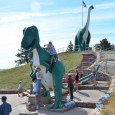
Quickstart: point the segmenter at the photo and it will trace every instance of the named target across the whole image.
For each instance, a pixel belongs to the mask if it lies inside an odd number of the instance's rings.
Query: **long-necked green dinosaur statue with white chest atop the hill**
[[[80,29],[77,32],[77,35],[75,36],[75,47],[74,47],[75,51],[78,51],[78,50],[85,51],[85,50],[88,50],[89,48],[91,34],[88,28],[89,28],[89,22],[90,22],[90,12],[92,9],[94,9],[93,5],[91,5],[88,9],[88,17],[87,17],[87,22],[85,26],[82,29]]]

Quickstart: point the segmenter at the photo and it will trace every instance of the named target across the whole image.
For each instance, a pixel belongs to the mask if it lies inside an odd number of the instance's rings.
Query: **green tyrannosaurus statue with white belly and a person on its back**
[[[34,77],[34,66],[39,66],[43,72],[42,84],[48,90],[54,90],[55,102],[51,108],[61,108],[62,100],[62,77],[65,72],[65,67],[60,60],[57,60],[53,65],[50,65],[50,54],[40,46],[40,38],[36,26],[27,27],[23,30],[23,39],[21,47],[26,53],[33,52],[33,62],[31,63],[31,77]],[[47,70],[47,72],[46,72]]]

